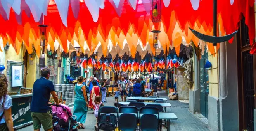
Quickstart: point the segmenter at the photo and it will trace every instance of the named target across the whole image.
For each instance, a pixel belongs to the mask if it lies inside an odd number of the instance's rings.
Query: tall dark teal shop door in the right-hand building
[[[208,118],[208,94],[209,94],[209,85],[208,85],[208,69],[204,68],[206,61],[208,60],[208,53],[204,51],[204,55],[200,59],[200,113]]]

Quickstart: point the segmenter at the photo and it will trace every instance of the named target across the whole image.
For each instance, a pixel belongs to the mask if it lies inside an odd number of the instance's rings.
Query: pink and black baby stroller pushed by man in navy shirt
[[[54,131],[77,131],[76,116],[64,104],[49,104],[52,109],[52,124]]]

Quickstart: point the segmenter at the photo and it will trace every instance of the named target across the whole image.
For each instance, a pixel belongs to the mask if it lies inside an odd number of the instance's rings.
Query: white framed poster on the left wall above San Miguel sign
[[[12,87],[22,86],[22,66],[12,66]]]

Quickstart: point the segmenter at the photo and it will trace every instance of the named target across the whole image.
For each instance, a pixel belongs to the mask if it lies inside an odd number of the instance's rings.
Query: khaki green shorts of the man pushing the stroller
[[[47,111],[46,113],[31,112],[31,116],[33,119],[34,130],[40,129],[41,124],[45,131],[52,128],[52,114],[50,111]]]

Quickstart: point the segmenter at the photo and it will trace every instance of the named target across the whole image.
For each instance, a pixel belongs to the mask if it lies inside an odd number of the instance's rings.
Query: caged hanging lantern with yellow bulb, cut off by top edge
[[[161,0],[152,0],[152,22],[161,22]]]

